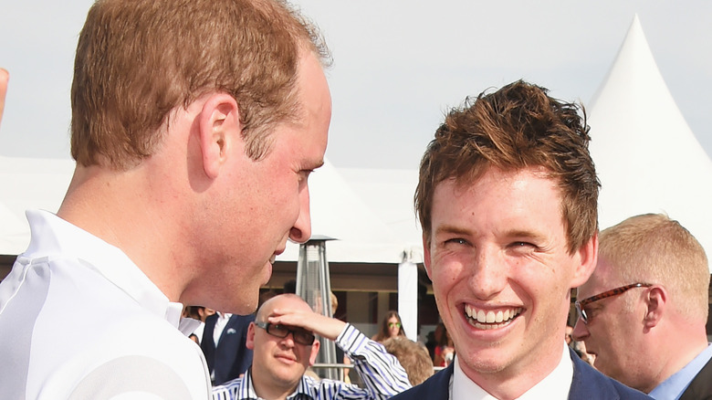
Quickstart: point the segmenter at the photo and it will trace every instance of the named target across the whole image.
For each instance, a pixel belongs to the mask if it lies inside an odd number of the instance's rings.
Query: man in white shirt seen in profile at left
[[[209,397],[183,304],[255,311],[287,240],[309,239],[329,61],[277,0],[91,6],[77,167],[57,215],[27,212],[31,243],[0,284],[3,397]]]

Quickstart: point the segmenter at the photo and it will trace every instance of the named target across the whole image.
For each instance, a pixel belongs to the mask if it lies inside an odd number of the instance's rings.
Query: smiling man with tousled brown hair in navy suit
[[[415,193],[455,363],[398,398],[645,398],[564,342],[596,265],[599,184],[575,104],[518,81],[451,111]]]

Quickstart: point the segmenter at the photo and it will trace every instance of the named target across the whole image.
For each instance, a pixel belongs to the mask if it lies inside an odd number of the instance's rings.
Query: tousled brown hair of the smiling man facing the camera
[[[570,253],[596,234],[600,184],[588,150],[586,113],[582,106],[547,93],[518,80],[493,93],[482,92],[475,101],[467,98],[464,106],[447,114],[424,153],[414,196],[428,241],[435,186],[451,178],[471,184],[489,166],[546,170],[561,192]]]

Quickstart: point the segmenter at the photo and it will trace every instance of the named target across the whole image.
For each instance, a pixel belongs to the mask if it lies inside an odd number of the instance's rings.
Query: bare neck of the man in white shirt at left
[[[78,166],[58,216],[119,247],[169,300],[177,301],[183,277],[171,243],[177,226],[168,226],[174,211],[152,197],[156,190],[141,168],[115,172]]]

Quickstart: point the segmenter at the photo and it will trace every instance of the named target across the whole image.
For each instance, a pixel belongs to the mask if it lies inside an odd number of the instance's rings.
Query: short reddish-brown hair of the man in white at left
[[[316,28],[277,0],[99,0],[79,34],[71,153],[127,169],[161,142],[169,115],[210,92],[239,107],[247,154],[296,118],[302,49],[330,56]]]

